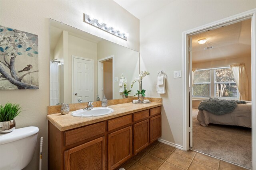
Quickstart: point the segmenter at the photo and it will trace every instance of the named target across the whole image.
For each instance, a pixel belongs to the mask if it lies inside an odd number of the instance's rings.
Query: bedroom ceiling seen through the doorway
[[[207,42],[198,44],[206,38]],[[204,47],[213,46],[213,49]],[[251,55],[251,20],[245,20],[192,36],[192,61],[229,59]]]

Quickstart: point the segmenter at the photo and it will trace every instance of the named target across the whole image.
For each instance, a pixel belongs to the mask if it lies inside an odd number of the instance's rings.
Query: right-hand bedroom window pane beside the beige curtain
[[[231,68],[214,69],[214,97],[238,98],[238,95]]]

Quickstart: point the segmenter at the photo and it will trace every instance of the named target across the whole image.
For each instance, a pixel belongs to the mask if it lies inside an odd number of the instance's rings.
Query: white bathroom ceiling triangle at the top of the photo
[[[139,20],[159,8],[172,2],[171,0],[114,0]]]

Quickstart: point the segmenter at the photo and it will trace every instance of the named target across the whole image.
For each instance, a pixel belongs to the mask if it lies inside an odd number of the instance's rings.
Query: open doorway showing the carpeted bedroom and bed
[[[189,36],[192,39],[189,57],[192,59],[190,129],[193,134],[190,149],[252,169],[250,28],[251,19],[248,19]],[[206,43],[200,44],[204,38]],[[247,80],[246,90],[235,80],[234,64],[243,65],[241,74]],[[227,107],[219,112],[230,100],[245,100],[246,104],[237,104],[231,113]]]

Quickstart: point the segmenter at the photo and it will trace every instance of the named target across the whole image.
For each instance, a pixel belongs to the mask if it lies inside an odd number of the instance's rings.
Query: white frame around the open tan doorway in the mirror
[[[98,59],[98,95],[101,100],[103,98],[102,93],[99,94],[99,92],[101,92],[103,90],[102,87],[100,86],[101,84],[103,84],[102,74],[101,74],[101,66],[102,66],[101,64],[103,61],[107,61],[109,59],[112,59],[112,98],[114,99],[114,65],[115,65],[114,57],[115,57],[115,55],[110,55],[108,57]]]

